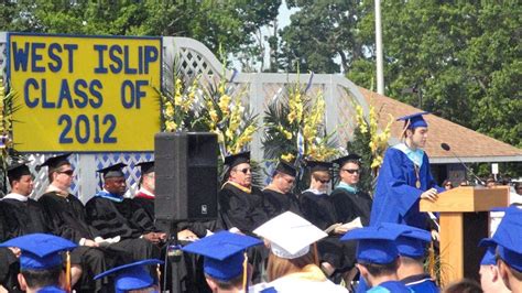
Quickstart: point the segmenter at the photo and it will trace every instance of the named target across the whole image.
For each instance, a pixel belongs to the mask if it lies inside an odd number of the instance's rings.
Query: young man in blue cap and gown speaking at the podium
[[[398,223],[428,228],[428,215],[418,210],[421,198],[436,200],[444,189],[436,185],[429,160],[422,150],[427,140],[427,123],[418,112],[401,117],[403,142],[389,148],[379,171],[370,226]]]

